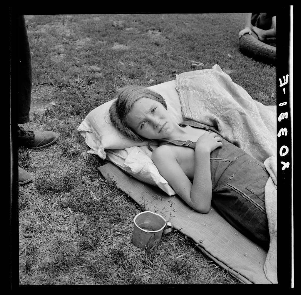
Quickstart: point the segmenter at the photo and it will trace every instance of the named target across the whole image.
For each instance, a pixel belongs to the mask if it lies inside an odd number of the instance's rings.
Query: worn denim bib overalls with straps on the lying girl
[[[179,125],[202,128],[215,132],[222,138],[222,147],[210,154],[213,191],[211,204],[234,228],[268,249],[270,238],[264,189],[269,174],[263,163],[225,140],[212,127],[192,120]],[[195,142],[190,140],[162,141],[195,149]]]

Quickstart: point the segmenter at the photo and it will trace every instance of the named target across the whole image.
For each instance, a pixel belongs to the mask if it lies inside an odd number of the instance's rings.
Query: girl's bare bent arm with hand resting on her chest
[[[178,196],[200,213],[208,213],[210,210],[212,197],[210,152],[222,146],[220,141],[221,139],[216,133],[205,133],[200,136],[194,153],[193,184],[178,164],[173,149],[164,145],[152,153],[152,160],[160,174],[168,181]]]

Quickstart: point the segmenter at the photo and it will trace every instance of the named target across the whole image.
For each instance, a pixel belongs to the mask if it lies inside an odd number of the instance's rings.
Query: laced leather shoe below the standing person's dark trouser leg
[[[57,140],[57,134],[53,131],[27,131],[19,126],[19,146],[30,149],[40,149],[50,146]]]

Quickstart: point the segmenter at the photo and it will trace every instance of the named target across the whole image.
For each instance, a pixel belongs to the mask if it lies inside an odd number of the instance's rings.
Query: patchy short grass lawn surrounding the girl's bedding
[[[19,186],[21,285],[240,284],[184,235],[147,253],[131,242],[143,211],[98,173],[76,131],[126,84],[151,86],[219,64],[253,99],[276,104],[276,68],[242,55],[242,14],[26,15],[33,87],[27,130],[57,143],[19,149],[33,182]]]

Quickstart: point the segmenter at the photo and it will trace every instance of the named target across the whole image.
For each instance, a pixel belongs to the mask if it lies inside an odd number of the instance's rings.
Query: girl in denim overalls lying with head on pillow
[[[177,124],[163,97],[127,86],[110,108],[116,129],[135,141],[157,140],[152,160],[189,206],[208,213],[212,204],[237,230],[268,249],[264,164],[228,142],[217,130],[195,121]]]

